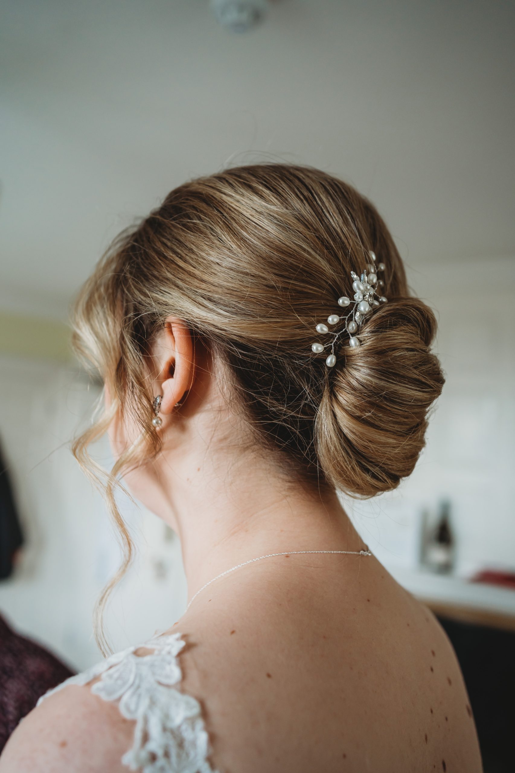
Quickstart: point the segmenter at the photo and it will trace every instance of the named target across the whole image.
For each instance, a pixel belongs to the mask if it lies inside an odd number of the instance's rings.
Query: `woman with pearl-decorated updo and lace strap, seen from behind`
[[[107,430],[127,560],[118,475],[179,533],[189,606],[46,697],[0,773],[480,771],[448,640],[336,496],[411,473],[443,384],[367,199],[289,165],[189,182],[104,257],[75,331],[106,387],[76,454]]]

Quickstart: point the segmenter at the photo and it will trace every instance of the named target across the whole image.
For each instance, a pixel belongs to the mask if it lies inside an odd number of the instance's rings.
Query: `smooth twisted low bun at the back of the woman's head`
[[[320,464],[339,489],[373,496],[412,472],[444,383],[435,330],[423,301],[398,298],[363,325],[361,346],[340,349],[315,423]]]

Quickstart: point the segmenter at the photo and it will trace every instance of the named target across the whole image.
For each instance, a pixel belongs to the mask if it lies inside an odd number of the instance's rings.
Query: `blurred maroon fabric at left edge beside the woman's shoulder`
[[[68,676],[67,666],[0,617],[0,751],[38,698]]]

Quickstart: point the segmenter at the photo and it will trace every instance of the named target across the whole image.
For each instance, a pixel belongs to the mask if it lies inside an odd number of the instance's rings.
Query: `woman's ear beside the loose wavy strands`
[[[162,390],[160,412],[171,414],[193,386],[195,377],[193,336],[184,322],[175,317],[166,319],[162,335],[156,341],[155,356]]]

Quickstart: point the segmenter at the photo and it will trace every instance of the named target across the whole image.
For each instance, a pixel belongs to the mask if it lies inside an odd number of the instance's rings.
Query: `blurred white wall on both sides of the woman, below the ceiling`
[[[515,265],[440,261],[410,278],[437,310],[447,383],[414,474],[391,495],[353,503],[356,526],[388,568],[414,569],[421,509],[445,496],[457,574],[486,565],[513,569]],[[91,613],[118,563],[104,502],[68,448],[97,397],[77,369],[0,357],[0,438],[28,538],[15,576],[0,583],[0,611],[76,668],[98,659]],[[95,455],[110,461],[106,444]],[[172,625],[186,601],[178,540],[168,541],[152,514],[135,512],[124,499],[121,507],[140,555],[106,615],[116,649]]]

